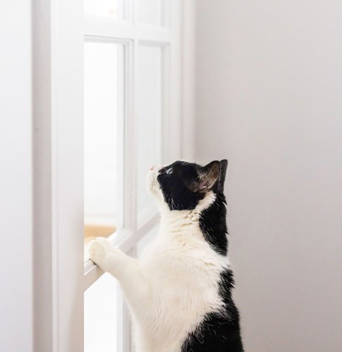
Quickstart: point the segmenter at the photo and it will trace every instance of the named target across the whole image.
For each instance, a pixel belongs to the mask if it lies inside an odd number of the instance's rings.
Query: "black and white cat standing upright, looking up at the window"
[[[134,318],[137,352],[241,352],[239,312],[227,258],[227,160],[176,161],[148,172],[160,232],[139,260],[107,239],[91,260],[121,284]]]

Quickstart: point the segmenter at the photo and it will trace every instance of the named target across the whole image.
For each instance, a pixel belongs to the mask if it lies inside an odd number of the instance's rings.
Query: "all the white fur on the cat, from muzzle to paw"
[[[218,282],[229,260],[213,251],[199,227],[199,215],[215,194],[208,192],[194,210],[170,211],[157,174],[151,170],[147,183],[162,215],[160,232],[139,261],[102,238],[91,241],[89,254],[120,281],[133,313],[137,352],[179,352],[205,314],[222,308]]]

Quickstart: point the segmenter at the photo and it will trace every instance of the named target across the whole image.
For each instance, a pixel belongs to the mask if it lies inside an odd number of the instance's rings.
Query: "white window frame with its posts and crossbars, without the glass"
[[[84,36],[125,45],[125,189],[137,186],[134,99],[137,45],[163,46],[163,162],[194,153],[194,0],[165,0],[163,27],[137,23],[137,1],[125,1],[125,20],[83,13],[81,0],[33,0],[34,351],[83,351],[83,295],[103,272],[84,262],[83,44]],[[170,18],[165,14],[169,13]],[[168,18],[168,19],[167,19]],[[182,25],[186,23],[186,25]],[[183,37],[182,39],[182,35]],[[125,201],[125,227],[111,237],[132,256],[158,222],[137,225]],[[118,351],[132,351],[125,306]]]

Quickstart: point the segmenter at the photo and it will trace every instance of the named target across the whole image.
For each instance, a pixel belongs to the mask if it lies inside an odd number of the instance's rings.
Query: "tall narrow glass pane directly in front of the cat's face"
[[[161,163],[162,53],[158,46],[140,45],[138,50],[137,129],[138,129],[138,217],[139,221],[156,210],[146,191],[146,175],[151,165]]]

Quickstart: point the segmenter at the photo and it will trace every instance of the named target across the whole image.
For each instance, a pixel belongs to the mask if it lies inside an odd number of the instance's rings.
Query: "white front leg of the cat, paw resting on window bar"
[[[125,298],[134,313],[139,315],[141,305],[150,300],[150,289],[138,260],[127,256],[108,239],[101,237],[90,242],[89,256],[102,270],[119,280]]]

